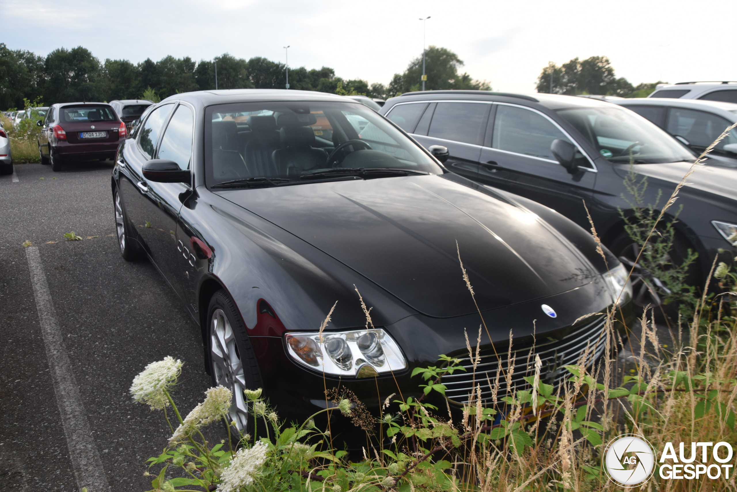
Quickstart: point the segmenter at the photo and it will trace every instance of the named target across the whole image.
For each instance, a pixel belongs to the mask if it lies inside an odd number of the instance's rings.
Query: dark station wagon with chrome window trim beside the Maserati
[[[628,172],[648,178],[644,204],[662,206],[696,158],[637,113],[590,98],[413,92],[388,99],[381,113],[425,147],[447,147],[447,166],[459,175],[535,200],[588,228],[585,203],[604,244],[629,262],[638,248],[620,214],[620,209],[632,214],[624,186]],[[733,169],[703,166],[680,192],[683,210],[671,258],[681,264],[689,249],[699,253],[688,277],[691,285],[704,285],[720,251],[737,252],[735,190]],[[678,208],[671,208],[666,219],[673,219]],[[655,279],[639,265],[635,274],[635,303],[659,303],[660,296],[648,287],[657,287]]]

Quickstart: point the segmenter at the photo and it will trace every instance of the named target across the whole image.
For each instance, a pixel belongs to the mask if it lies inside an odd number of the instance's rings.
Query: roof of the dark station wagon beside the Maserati
[[[598,99],[576,96],[562,96],[559,94],[523,94],[512,92],[493,91],[419,91],[407,92],[401,96],[388,99],[387,105],[395,105],[399,102],[428,101],[439,99],[465,99],[493,102],[516,102],[523,105],[534,105],[537,103],[551,110],[562,108],[611,108],[609,102]]]

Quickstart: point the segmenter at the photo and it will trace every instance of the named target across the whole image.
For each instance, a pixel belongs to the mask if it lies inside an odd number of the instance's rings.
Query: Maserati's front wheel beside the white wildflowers
[[[207,342],[212,384],[233,392],[228,420],[240,432],[251,430],[248,399],[243,390],[262,387],[259,365],[235,303],[224,289],[214,293],[207,310]]]

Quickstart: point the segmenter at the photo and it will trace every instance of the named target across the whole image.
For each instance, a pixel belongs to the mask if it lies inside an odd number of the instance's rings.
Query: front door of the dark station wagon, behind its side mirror
[[[553,140],[575,144],[573,138],[545,114],[503,102],[495,103],[489,126],[478,181],[528,197],[586,227],[583,202],[593,194],[594,165],[579,151],[579,171],[570,174],[551,152]]]

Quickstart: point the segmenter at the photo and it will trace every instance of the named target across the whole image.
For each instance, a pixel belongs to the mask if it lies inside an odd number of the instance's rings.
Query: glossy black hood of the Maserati
[[[537,215],[439,176],[217,191],[374,281],[423,314],[475,312],[598,278]]]

